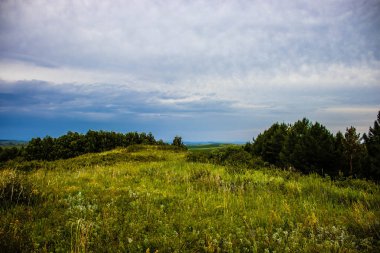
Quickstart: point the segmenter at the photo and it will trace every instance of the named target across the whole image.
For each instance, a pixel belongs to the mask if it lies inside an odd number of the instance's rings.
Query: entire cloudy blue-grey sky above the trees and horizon
[[[364,133],[379,110],[379,0],[0,1],[0,139]]]

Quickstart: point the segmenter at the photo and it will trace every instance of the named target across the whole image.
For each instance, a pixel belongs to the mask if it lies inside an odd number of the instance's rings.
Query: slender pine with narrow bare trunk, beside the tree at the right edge
[[[360,144],[360,134],[356,133],[355,127],[346,129],[343,139],[343,154],[349,163],[349,175],[353,175],[353,163],[360,159],[362,146]]]

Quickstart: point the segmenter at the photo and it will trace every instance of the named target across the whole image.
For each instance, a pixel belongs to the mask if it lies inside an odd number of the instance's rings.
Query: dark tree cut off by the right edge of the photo
[[[370,178],[380,179],[380,111],[377,114],[373,127],[369,128],[368,135],[363,136],[368,152],[369,171],[366,171]]]

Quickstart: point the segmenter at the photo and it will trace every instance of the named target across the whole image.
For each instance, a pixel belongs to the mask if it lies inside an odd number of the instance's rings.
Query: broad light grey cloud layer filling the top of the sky
[[[379,60],[376,1],[10,2],[0,5],[1,51],[53,66],[170,81],[281,63]]]

